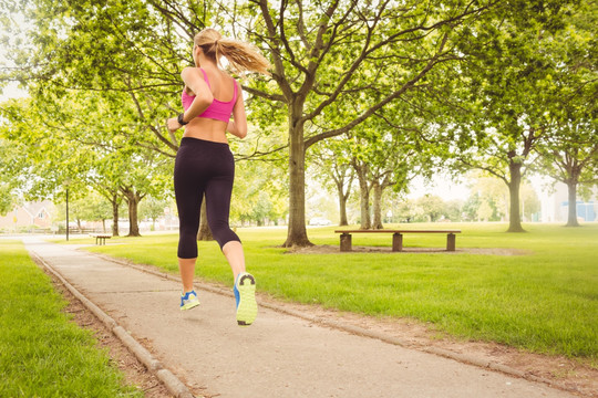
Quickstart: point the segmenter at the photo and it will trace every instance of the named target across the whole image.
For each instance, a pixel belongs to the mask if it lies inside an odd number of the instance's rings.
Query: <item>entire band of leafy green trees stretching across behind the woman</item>
[[[330,174],[341,216],[348,181],[359,181],[363,228],[381,227],[385,189],[404,191],[414,176],[440,168],[481,169],[508,187],[509,231],[520,231],[526,172],[542,169],[565,181],[574,199],[578,184],[596,182],[595,6],[3,3],[12,64],[2,78],[20,81],[31,95],[2,105],[0,148],[3,159],[18,158],[2,160],[7,184],[50,196],[91,185],[112,202],[124,198],[134,217],[140,200],[171,184],[181,137],[164,121],[178,112],[192,38],[209,24],[256,43],[272,63],[271,78],[239,76],[255,138],[231,148],[238,159],[259,159],[238,167],[248,170],[237,179],[240,190],[271,195],[280,213],[288,198],[286,245],[310,244],[309,166]],[[18,10],[30,23],[16,23]],[[250,198],[234,211],[247,212]]]

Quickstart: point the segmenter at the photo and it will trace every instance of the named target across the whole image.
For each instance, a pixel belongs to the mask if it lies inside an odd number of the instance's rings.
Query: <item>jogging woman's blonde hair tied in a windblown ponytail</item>
[[[218,65],[220,65],[220,57],[226,57],[233,72],[249,71],[270,75],[268,72],[270,63],[256,46],[249,43],[223,38],[218,31],[209,28],[197,33],[194,43],[202,48],[206,56],[215,59]]]

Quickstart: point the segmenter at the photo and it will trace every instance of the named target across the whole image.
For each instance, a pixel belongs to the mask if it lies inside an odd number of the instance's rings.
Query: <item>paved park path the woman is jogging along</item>
[[[202,305],[182,313],[176,281],[39,238],[25,237],[23,242],[196,395],[574,397],[542,383],[320,326],[266,307],[260,307],[252,326],[238,327],[233,296],[202,291],[200,283]]]

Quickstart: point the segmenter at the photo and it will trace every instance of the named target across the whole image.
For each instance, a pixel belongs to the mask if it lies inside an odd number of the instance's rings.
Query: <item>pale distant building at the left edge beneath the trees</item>
[[[25,203],[0,217],[0,231],[14,232],[25,229],[49,229],[54,205],[50,201]]]

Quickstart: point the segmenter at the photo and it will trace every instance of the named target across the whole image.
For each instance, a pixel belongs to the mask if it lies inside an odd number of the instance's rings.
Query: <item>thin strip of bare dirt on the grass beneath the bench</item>
[[[463,248],[463,249],[456,249],[455,251],[446,251],[446,249],[443,248],[403,248],[403,251],[401,252],[393,252],[392,248],[389,247],[362,247],[362,245],[353,245],[353,250],[350,252],[341,252],[340,248],[338,245],[331,245],[331,244],[316,244],[308,248],[290,248],[287,251],[288,254],[343,254],[343,255],[351,255],[352,253],[388,253],[393,255],[401,255],[403,253],[421,253],[421,254],[430,254],[430,253],[444,253],[444,254],[486,254],[486,255],[527,255],[532,254],[530,251],[522,250],[522,249],[505,249],[505,248],[488,248],[488,249],[480,249],[480,248]]]

